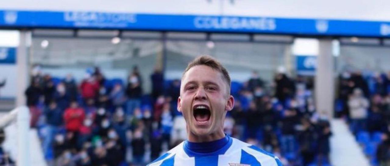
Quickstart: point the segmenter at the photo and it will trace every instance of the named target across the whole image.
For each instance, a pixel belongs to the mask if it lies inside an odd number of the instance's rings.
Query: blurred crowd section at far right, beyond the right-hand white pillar
[[[349,122],[372,165],[390,165],[390,73],[344,72],[336,116]]]

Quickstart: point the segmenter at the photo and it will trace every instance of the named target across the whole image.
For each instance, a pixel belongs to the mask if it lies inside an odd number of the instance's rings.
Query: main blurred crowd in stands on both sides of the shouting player
[[[136,66],[127,80],[106,79],[98,67],[81,82],[71,74],[31,78],[25,91],[30,125],[39,130],[49,165],[145,165],[186,139],[176,109],[180,80],[165,80],[158,69],[149,79]],[[144,81],[151,81],[150,94],[143,93]],[[316,111],[312,91],[309,77],[284,73],[272,82],[255,71],[246,82],[233,81],[236,102],[225,133],[272,152],[286,166],[329,165],[330,123]]]

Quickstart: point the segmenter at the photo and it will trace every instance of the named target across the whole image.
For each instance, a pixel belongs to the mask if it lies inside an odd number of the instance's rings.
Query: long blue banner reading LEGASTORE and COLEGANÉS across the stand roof
[[[0,28],[99,28],[124,30],[270,33],[390,37],[390,22],[275,17],[197,16],[106,12],[0,10]]]

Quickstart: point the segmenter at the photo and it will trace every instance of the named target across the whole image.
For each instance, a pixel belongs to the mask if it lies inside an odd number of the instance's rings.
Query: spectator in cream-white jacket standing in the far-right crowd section
[[[349,117],[351,118],[351,128],[353,133],[365,130],[367,119],[367,108],[369,101],[363,96],[362,90],[356,88],[348,100]]]

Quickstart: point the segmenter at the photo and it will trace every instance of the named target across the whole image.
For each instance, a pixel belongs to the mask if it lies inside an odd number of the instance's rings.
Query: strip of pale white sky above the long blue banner
[[[389,7],[389,0],[4,0],[0,9],[390,21]]]

